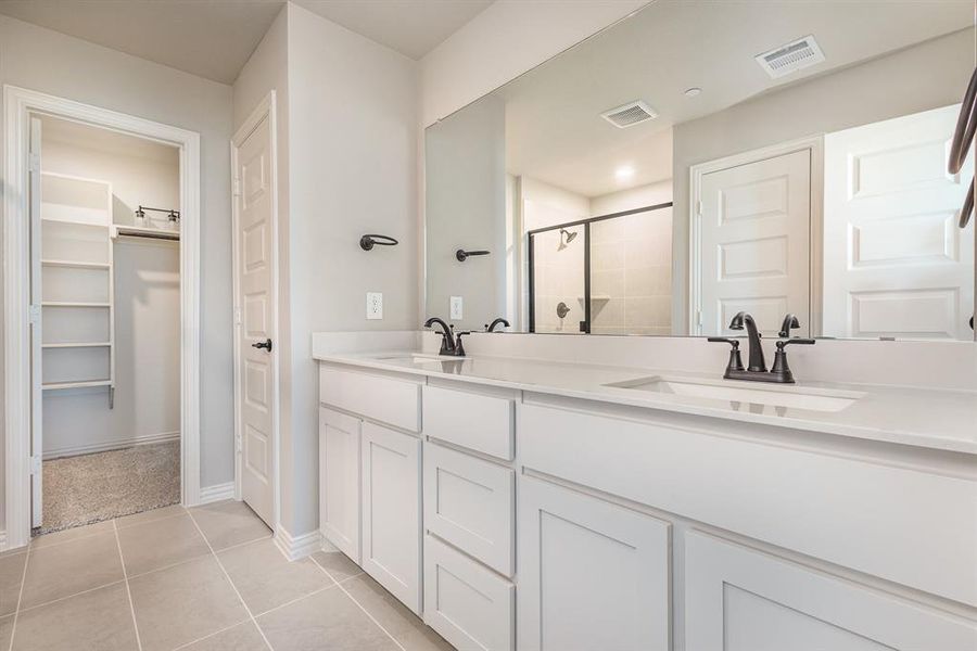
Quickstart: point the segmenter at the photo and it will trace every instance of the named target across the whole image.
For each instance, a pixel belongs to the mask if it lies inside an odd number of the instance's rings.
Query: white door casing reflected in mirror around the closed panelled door
[[[810,155],[810,210],[809,224],[809,285],[808,314],[810,315],[810,336],[821,335],[821,305],[822,305],[822,241],[824,219],[824,137],[823,135],[808,136],[796,140],[787,140],[769,146],[749,150],[723,156],[706,163],[697,163],[688,168],[688,333],[701,334],[698,311],[701,309],[702,282],[700,273],[700,245],[701,245],[701,207],[700,201],[702,177],[707,174],[721,171],[731,167],[759,163],[767,158],[775,158],[796,152],[808,151]]]

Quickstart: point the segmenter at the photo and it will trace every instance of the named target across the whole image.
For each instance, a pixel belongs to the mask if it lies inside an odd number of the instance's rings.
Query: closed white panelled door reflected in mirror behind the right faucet
[[[794,312],[811,332],[811,154],[802,150],[702,175],[698,334],[734,334],[747,311],[775,336]]]

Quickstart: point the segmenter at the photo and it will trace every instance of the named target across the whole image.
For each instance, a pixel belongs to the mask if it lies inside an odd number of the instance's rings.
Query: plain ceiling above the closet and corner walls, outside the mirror
[[[0,14],[199,77],[232,84],[284,0],[0,0]],[[420,59],[492,0],[300,0]]]

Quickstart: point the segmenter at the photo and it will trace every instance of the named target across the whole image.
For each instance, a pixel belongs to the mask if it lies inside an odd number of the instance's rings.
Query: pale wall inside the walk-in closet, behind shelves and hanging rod
[[[54,129],[46,131],[42,168],[111,182],[115,224],[132,224],[132,213],[140,204],[179,207],[175,148],[137,142],[128,150],[119,143],[111,150],[99,149],[98,130],[88,131],[92,146],[56,140],[50,137]],[[126,155],[125,151],[142,155]],[[123,238],[115,241],[114,250],[115,407],[109,409],[105,388],[47,392],[46,456],[179,435],[179,246]]]

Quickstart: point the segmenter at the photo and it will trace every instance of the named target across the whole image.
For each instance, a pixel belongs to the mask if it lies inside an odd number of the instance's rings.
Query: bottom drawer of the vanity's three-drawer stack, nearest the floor
[[[424,623],[457,649],[515,648],[516,586],[424,536]]]

